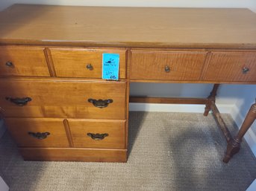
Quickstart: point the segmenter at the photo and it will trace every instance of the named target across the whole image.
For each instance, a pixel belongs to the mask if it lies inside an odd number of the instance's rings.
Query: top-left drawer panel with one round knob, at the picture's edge
[[[49,77],[44,48],[0,46],[0,76]]]

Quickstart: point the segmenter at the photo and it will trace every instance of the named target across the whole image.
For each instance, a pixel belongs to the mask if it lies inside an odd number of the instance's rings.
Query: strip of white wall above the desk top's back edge
[[[256,11],[255,0],[1,0],[4,8],[14,3],[131,7],[248,7]]]

